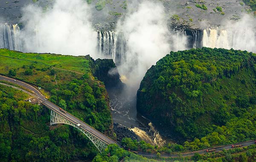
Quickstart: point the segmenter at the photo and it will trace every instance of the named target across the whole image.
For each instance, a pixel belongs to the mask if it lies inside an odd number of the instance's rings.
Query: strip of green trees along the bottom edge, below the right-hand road
[[[109,145],[105,151],[99,153],[93,159],[93,162],[119,162],[120,160],[123,162],[255,162],[256,160],[256,145],[233,148],[229,150],[224,149],[219,152],[205,154],[195,153],[194,156],[186,157],[183,157],[182,153],[177,151],[175,153],[177,157],[175,158],[162,158],[162,153],[166,153],[162,152],[161,148],[154,147],[154,154],[156,154],[156,157],[154,157],[154,159],[146,159],[142,156],[134,154],[138,153],[137,151],[133,151],[134,153],[127,151],[134,148],[134,144],[138,146],[138,152],[141,151],[140,147],[143,147],[143,145],[149,145],[125,138],[122,140],[122,146],[125,147],[126,150],[119,148],[117,145]],[[134,149],[136,150],[137,148],[135,147]]]

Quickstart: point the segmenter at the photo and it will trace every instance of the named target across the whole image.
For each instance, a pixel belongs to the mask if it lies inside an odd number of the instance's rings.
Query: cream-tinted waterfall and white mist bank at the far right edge
[[[239,20],[228,20],[220,27],[204,30],[203,46],[256,52],[256,19],[244,14]]]

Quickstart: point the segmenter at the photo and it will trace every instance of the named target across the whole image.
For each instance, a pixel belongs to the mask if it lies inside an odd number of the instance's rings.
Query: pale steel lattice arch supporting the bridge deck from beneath
[[[76,127],[78,130],[80,130],[82,133],[87,136],[91,142],[96,146],[96,148],[99,150],[99,152],[102,152],[102,150],[105,150],[107,148],[107,144],[96,138],[95,136],[91,135],[89,132],[86,130],[82,129],[81,127],[77,126],[76,124],[73,124],[69,120],[65,119],[64,117],[60,116],[58,113],[55,113],[54,111],[51,110],[51,122],[50,125],[53,124],[68,124],[73,127]]]

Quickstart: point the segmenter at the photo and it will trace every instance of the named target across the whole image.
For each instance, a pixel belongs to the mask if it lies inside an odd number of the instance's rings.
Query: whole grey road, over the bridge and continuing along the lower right
[[[27,90],[32,91],[33,93],[30,93],[30,92],[28,92],[26,90],[23,90],[23,89],[19,88],[19,87],[15,87],[15,86],[12,86],[12,85],[9,85],[9,84],[5,84],[5,83],[0,83],[2,85],[9,86],[9,87],[15,88],[17,90],[22,90],[23,92],[38,98],[41,101],[41,104],[44,104],[50,110],[54,111],[55,113],[58,113],[59,115],[63,116],[64,118],[68,119],[73,124],[81,124],[80,127],[82,129],[86,130],[87,132],[90,132],[93,136],[95,136],[96,138],[100,139],[105,144],[107,144],[107,145],[109,145],[109,144],[117,144],[113,139],[109,138],[105,134],[103,134],[103,133],[99,132],[98,130],[94,129],[90,125],[84,123],[83,121],[81,121],[80,119],[76,118],[72,114],[70,114],[68,112],[65,112],[65,113],[62,112],[60,110],[60,107],[58,107],[57,105],[55,105],[52,102],[48,101],[44,97],[44,95],[42,93],[40,93],[40,91],[37,90],[32,85],[24,83],[23,81],[18,81],[18,80],[15,80],[13,78],[9,78],[9,77],[3,76],[3,75],[0,75],[0,81],[8,81],[10,83],[17,84],[17,85],[19,85],[21,87],[26,88]],[[215,151],[213,151],[213,152],[218,152],[218,151],[222,151],[223,149],[226,149],[226,150],[232,149],[232,145],[241,145],[242,147],[249,146],[249,145],[255,145],[255,140],[246,141],[246,142],[240,142],[240,143],[230,144],[230,145],[224,145],[224,146],[218,146],[218,147],[214,147],[214,148],[207,148],[207,149],[208,150],[215,149]],[[193,156],[195,153],[205,154],[205,153],[207,153],[206,152],[207,149],[181,153],[181,156],[183,156],[183,157],[185,157],[185,156]],[[156,153],[138,152],[138,154],[142,155],[142,156],[145,156],[145,157],[157,157]],[[161,154],[161,157],[179,157],[179,154]]]

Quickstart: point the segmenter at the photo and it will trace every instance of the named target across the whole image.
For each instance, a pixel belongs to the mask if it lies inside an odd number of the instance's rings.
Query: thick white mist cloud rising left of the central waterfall
[[[30,4],[23,9],[21,33],[26,52],[95,55],[97,33],[86,0],[55,0],[44,11]]]

